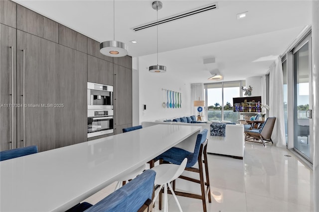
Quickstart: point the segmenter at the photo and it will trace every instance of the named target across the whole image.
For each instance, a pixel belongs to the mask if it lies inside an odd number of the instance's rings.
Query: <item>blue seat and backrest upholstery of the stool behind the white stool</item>
[[[203,129],[200,133],[198,133],[194,152],[188,152],[184,149],[172,147],[164,153],[160,154],[158,157],[156,157],[156,160],[163,159],[164,161],[180,165],[184,158],[187,158],[186,167],[189,168],[194,166],[195,163],[198,161],[200,144],[202,144],[205,141],[207,137],[207,132],[207,129]]]

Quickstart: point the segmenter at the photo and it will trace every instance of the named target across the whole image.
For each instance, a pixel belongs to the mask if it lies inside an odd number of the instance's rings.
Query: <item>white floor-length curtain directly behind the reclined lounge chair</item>
[[[269,116],[277,117],[272,139],[277,147],[286,148],[285,119],[284,119],[284,91],[283,67],[278,57],[270,66],[269,75]]]

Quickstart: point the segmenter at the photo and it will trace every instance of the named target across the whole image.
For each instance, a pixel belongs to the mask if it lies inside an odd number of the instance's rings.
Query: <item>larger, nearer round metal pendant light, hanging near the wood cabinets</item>
[[[109,57],[124,57],[128,54],[128,46],[115,40],[115,0],[113,0],[113,40],[100,43],[100,52]]]

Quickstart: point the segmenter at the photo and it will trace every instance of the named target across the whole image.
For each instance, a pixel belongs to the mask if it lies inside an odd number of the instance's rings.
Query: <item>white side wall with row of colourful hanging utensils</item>
[[[190,115],[190,84],[182,76],[174,76],[167,67],[166,73],[150,73],[147,56],[138,58],[139,70],[139,122]],[[153,64],[156,65],[156,64]],[[181,108],[163,108],[167,102],[162,89],[181,93]],[[169,99],[169,98],[168,98]],[[146,105],[146,110],[143,109]],[[133,109],[133,111],[136,111]],[[135,122],[135,120],[133,120]]]

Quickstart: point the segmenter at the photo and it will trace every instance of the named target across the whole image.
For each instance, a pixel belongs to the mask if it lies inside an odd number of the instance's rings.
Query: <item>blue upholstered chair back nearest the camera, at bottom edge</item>
[[[116,190],[94,206],[81,203],[67,212],[138,212],[153,208],[152,195],[156,172],[146,170],[122,188]],[[84,204],[84,205],[83,205]],[[87,208],[89,206],[89,208]]]

